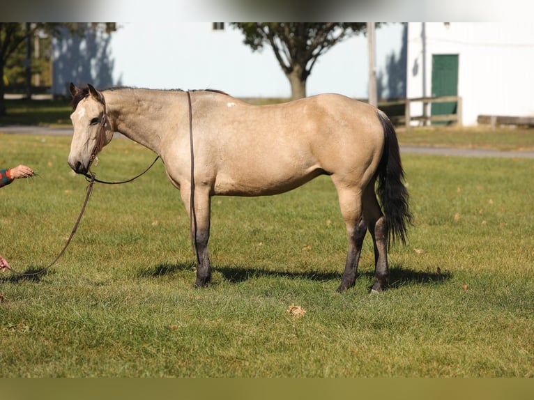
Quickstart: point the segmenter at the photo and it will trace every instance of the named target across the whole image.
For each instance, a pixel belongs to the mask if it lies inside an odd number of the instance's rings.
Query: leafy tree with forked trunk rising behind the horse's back
[[[365,33],[365,22],[234,22],[253,51],[268,45],[291,84],[293,99],[306,96],[315,62],[337,43]]]

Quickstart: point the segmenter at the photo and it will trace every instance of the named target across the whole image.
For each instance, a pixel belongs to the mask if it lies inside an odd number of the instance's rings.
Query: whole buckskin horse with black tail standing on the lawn
[[[211,90],[98,91],[71,83],[70,92],[68,164],[75,172],[87,174],[114,132],[161,157],[190,216],[194,286],[211,279],[211,197],[279,194],[319,175],[333,180],[349,238],[337,291],[356,282],[367,230],[375,256],[371,291],[388,284],[388,244],[406,243],[411,213],[395,128],[379,109],[337,94],[258,106]]]

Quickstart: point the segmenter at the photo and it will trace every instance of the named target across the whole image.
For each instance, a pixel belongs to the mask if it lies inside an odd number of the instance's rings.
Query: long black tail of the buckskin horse
[[[399,153],[397,134],[391,121],[381,111],[379,120],[384,131],[384,150],[378,171],[378,194],[382,203],[383,213],[386,215],[388,226],[388,243],[391,240],[401,240],[406,245],[408,226],[412,215],[409,210],[409,194],[404,186],[404,170]]]

